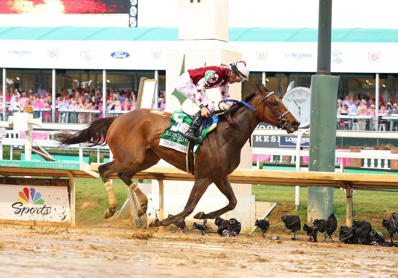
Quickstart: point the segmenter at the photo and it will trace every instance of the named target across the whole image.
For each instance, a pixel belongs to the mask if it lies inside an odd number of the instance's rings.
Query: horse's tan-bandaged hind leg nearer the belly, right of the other
[[[135,194],[137,194],[138,199],[140,200],[140,207],[137,209],[137,214],[138,216],[142,216],[145,214],[146,209],[148,208],[148,197],[146,197],[146,195],[141,191],[141,189],[139,189],[139,187],[137,186],[137,183],[135,183],[132,178],[133,176],[145,169],[148,169],[151,166],[154,166],[156,163],[158,163],[158,161],[160,160],[160,157],[157,156],[154,152],[148,150],[145,154],[145,159],[144,161],[134,167],[133,169],[126,171],[126,172],[122,172],[122,173],[117,173],[117,176],[119,176],[119,178],[131,189],[133,189],[133,191],[135,192]]]

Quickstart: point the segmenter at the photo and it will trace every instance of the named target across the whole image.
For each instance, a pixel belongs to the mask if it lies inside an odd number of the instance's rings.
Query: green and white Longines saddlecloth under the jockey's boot
[[[219,122],[219,117],[207,117],[203,119],[203,122],[205,121],[205,128],[203,128],[201,135],[199,135],[199,139],[202,139],[207,132],[215,129],[217,123]],[[188,139],[185,138],[184,133],[188,130],[191,123],[192,119],[187,116],[187,114],[178,110],[174,111],[170,117],[170,126],[160,137],[159,145],[186,153],[188,149]],[[200,145],[196,143],[193,147],[193,152],[195,155],[197,155],[199,151],[199,146]]]

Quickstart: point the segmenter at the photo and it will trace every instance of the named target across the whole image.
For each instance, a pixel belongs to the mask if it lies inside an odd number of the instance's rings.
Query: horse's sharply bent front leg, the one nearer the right
[[[228,199],[229,203],[222,209],[216,210],[209,212],[205,214],[203,211],[198,212],[193,216],[195,219],[214,219],[217,218],[218,216],[226,213],[227,211],[233,210],[236,207],[236,197],[234,194],[234,191],[232,190],[231,183],[229,182],[228,176],[225,178],[215,181],[214,184],[217,186],[217,188],[221,191],[222,194],[225,195],[225,197]]]

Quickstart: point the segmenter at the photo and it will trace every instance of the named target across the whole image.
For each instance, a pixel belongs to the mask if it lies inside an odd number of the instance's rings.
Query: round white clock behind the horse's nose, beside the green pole
[[[287,91],[282,102],[300,122],[299,128],[307,128],[310,125],[311,93],[309,88],[296,87]]]

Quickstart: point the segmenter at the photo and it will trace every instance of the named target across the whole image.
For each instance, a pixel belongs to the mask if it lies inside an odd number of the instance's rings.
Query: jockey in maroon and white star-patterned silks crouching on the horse
[[[221,64],[220,66],[188,69],[181,74],[177,79],[177,91],[192,100],[201,109],[193,118],[191,126],[185,132],[185,137],[199,142],[200,139],[195,136],[195,131],[199,128],[202,118],[208,117],[210,112],[215,111],[215,105],[203,90],[219,87],[224,100],[229,98],[229,84],[244,80],[249,80],[249,69],[244,61],[233,62],[229,66]],[[232,105],[232,102],[227,105]]]

